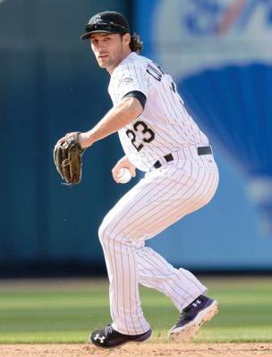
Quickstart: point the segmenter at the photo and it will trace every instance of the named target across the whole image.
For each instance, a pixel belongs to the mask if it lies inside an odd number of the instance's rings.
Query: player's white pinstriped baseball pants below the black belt
[[[106,214],[98,235],[117,331],[139,335],[150,328],[140,307],[139,283],[169,296],[179,311],[205,293],[206,287],[190,271],[174,269],[146,247],[145,240],[207,204],[217,184],[217,164],[212,155],[174,160],[149,170]]]

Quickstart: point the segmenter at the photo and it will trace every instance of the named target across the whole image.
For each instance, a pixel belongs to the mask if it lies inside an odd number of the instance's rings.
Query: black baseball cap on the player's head
[[[120,12],[98,12],[89,19],[85,26],[86,32],[81,35],[81,39],[87,39],[92,33],[127,33],[130,32],[130,25]]]

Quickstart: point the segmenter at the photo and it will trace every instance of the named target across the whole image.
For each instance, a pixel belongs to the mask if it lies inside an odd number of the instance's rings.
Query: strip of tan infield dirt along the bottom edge
[[[0,357],[272,357],[272,344],[131,344],[115,350],[92,345],[0,345]]]

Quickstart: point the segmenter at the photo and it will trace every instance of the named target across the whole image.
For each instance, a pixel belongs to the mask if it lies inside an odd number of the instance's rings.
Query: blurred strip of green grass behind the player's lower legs
[[[200,331],[198,342],[272,342],[272,278],[204,279],[219,313]],[[171,301],[141,289],[153,342],[165,342],[177,319]],[[0,283],[0,343],[81,343],[89,330],[110,321],[107,282],[89,280]]]

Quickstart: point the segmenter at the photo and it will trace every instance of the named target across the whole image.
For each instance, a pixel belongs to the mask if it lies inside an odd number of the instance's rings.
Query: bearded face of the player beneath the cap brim
[[[98,32],[90,37],[90,45],[101,68],[106,68],[109,73],[123,61],[131,52],[130,35],[108,34]]]

